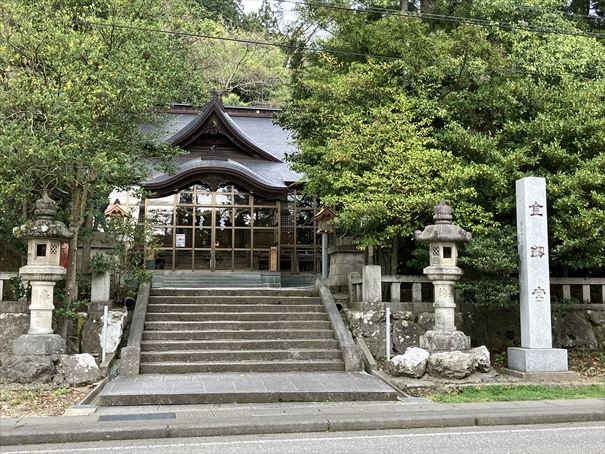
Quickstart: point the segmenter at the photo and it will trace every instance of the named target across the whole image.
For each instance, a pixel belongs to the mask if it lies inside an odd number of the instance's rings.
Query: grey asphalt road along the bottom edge
[[[66,443],[0,448],[11,454],[307,454],[605,452],[605,424],[492,426]]]

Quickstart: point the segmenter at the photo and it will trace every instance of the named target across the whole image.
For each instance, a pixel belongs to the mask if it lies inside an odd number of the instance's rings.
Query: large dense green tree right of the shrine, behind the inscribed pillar
[[[543,176],[555,265],[604,267],[605,45],[603,40],[574,35],[582,33],[584,25],[562,6],[554,0],[532,2],[532,8],[512,0],[435,1],[431,6],[431,11],[489,26],[309,8],[306,13],[329,28],[316,43],[326,51],[305,56],[305,64],[294,73],[293,99],[282,119],[295,131],[301,154],[294,162],[307,172],[309,191],[331,200],[343,187],[354,191],[355,200],[364,190],[355,190],[352,179],[373,181],[369,175],[383,174],[377,158],[357,151],[346,158],[353,161],[347,164],[351,171],[335,169],[332,181],[326,174],[330,164],[322,160],[329,156],[334,137],[359,140],[349,136],[373,121],[371,108],[395,108],[391,93],[400,93],[413,106],[412,117],[402,119],[406,124],[373,125],[377,137],[397,137],[397,129],[405,130],[410,122],[430,127],[430,148],[439,150],[441,159],[433,162],[433,169],[441,169],[441,175],[438,190],[431,184],[424,189],[435,191],[435,200],[437,194],[446,195],[459,223],[484,237],[488,246],[504,244],[501,232],[514,231],[515,225],[514,181]],[[503,22],[506,27],[498,26]],[[338,95],[341,84],[352,87],[346,96]],[[388,145],[373,142],[371,129],[364,133],[375,153],[388,155]],[[355,159],[364,160],[365,166],[352,168]],[[415,161],[405,165],[413,168]],[[404,163],[391,166],[382,180],[400,179],[401,166],[405,168]],[[420,160],[417,174],[405,178],[422,181],[423,171]],[[384,197],[401,204],[395,195],[387,186]],[[402,197],[413,200],[420,195],[422,189],[416,187]],[[365,199],[356,200],[361,204]],[[361,211],[357,221],[368,216]],[[420,228],[426,221],[418,213],[408,218],[410,225],[404,219],[389,219],[391,228],[383,222],[368,224],[375,231],[364,235],[388,243],[395,232],[410,232],[411,224]],[[467,263],[480,260],[474,255],[480,252],[492,251],[469,248]],[[514,259],[514,251],[511,254]]]

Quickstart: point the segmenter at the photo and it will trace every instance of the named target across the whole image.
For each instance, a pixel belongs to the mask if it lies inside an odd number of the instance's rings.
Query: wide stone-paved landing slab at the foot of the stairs
[[[119,376],[102,405],[216,404],[395,400],[395,391],[365,372],[141,374]]]

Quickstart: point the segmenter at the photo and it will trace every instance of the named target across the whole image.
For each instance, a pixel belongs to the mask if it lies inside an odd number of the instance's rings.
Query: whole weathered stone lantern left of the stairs
[[[61,266],[61,243],[73,237],[65,224],[55,221],[56,203],[46,192],[36,201],[35,219],[13,234],[27,240],[27,265],[19,269],[19,275],[31,285],[31,317],[29,331],[14,344],[16,355],[49,355],[62,353],[65,341],[53,334],[53,289],[63,280],[67,270]]]

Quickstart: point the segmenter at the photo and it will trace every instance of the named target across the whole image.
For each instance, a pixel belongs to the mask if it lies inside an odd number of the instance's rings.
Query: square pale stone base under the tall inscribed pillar
[[[567,372],[567,350],[509,347],[508,368],[520,372]]]

